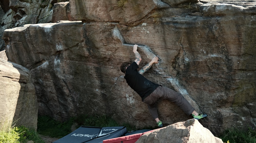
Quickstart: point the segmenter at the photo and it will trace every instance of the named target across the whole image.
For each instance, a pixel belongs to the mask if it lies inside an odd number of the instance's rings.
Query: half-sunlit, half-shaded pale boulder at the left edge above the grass
[[[37,130],[38,103],[30,71],[0,59],[0,125],[15,122]]]

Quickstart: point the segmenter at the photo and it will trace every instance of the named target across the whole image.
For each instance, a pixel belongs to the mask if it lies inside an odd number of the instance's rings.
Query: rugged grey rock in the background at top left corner
[[[68,0],[1,0],[0,37],[2,37],[4,30],[8,28],[23,26],[24,24],[51,22],[53,5],[66,1]],[[0,39],[0,51],[3,49],[4,41]]]

